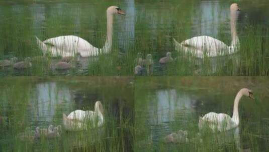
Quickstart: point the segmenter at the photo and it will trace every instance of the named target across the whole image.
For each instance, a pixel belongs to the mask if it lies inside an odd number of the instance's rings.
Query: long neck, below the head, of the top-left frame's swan
[[[105,45],[102,48],[103,53],[107,53],[111,50],[112,36],[113,36],[113,14],[107,12],[107,39]]]

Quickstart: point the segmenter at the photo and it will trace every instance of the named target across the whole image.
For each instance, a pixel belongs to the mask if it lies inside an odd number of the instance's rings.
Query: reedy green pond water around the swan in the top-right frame
[[[175,50],[173,37],[181,42],[208,35],[231,45],[232,2],[241,9],[236,55],[201,60]],[[135,49],[144,57],[152,54],[153,75],[268,75],[268,6],[268,0],[136,0]],[[168,51],[177,60],[161,65],[159,59]]]

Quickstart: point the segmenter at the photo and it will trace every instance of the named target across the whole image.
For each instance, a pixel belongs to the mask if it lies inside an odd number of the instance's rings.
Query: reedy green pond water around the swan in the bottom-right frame
[[[224,132],[203,132],[199,116],[232,115],[237,92],[242,97],[240,124]],[[139,77],[135,84],[135,151],[265,151],[268,148],[268,82],[265,77]],[[188,132],[188,141],[165,143],[165,136]],[[146,150],[145,150],[146,149]]]

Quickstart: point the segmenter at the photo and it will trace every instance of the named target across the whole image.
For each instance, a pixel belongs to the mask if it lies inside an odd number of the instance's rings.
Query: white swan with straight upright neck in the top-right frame
[[[240,11],[238,4],[233,3],[230,6],[230,25],[231,25],[231,46],[226,45],[223,41],[210,36],[196,36],[184,40],[181,43],[174,38],[176,50],[183,50],[184,52],[191,52],[194,56],[203,58],[206,56],[222,56],[236,52],[239,49],[239,39],[236,33],[237,11]]]

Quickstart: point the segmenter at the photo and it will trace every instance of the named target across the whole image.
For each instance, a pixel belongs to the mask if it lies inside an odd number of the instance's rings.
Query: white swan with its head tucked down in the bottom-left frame
[[[92,123],[92,126],[88,126]],[[72,111],[68,116],[63,113],[63,124],[67,130],[81,130],[89,127],[100,127],[104,123],[104,109],[101,101],[96,101],[95,111]]]

